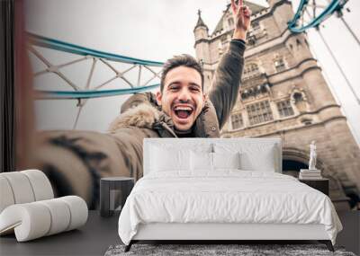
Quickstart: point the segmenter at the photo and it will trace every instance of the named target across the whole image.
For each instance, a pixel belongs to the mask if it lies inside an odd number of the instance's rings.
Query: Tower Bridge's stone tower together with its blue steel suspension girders
[[[238,103],[221,131],[221,137],[282,137],[284,172],[293,175],[297,174],[298,169],[307,166],[308,147],[312,140],[316,140],[319,167],[324,176],[330,179],[331,199],[338,208],[348,207],[348,202],[358,203],[359,146],[347,125],[347,118],[329,90],[329,84],[324,79],[317,60],[311,54],[305,33],[309,29],[319,30],[322,22],[336,14],[359,43],[343,17],[347,1],[300,0],[295,12],[292,2],[287,0],[268,0],[269,6],[244,2],[252,9],[253,19],[247,36],[243,86],[238,95]],[[198,15],[193,32],[196,57],[202,61],[204,68],[206,92],[211,88],[219,59],[229,46],[234,21],[229,4],[211,33],[202,21],[201,12]],[[163,65],[159,61],[87,49],[34,34],[29,34],[29,37],[29,51],[45,65],[34,76],[55,74],[67,85],[66,89],[61,90],[38,90],[38,98],[76,100],[78,113],[74,128],[88,100],[145,92],[159,85]],[[41,53],[41,49],[69,53],[76,58],[54,65]],[[85,61],[91,61],[91,68],[83,83],[85,86],[80,86],[71,81],[62,72],[62,68]],[[127,67],[119,68],[114,63]],[[99,64],[110,68],[112,75],[108,80],[94,84],[94,69]],[[341,68],[339,65],[338,67]],[[134,70],[136,75],[129,75]],[[144,75],[145,72],[148,75]],[[345,72],[342,71],[342,74],[360,103]],[[108,85],[113,81],[121,83],[109,89]]]

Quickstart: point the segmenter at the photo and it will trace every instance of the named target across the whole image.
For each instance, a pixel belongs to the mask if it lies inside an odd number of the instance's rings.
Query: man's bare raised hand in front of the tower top
[[[243,5],[243,0],[238,0],[238,5],[235,4],[235,0],[231,0],[231,9],[236,25],[232,39],[246,40],[247,31],[250,28],[251,10]]]

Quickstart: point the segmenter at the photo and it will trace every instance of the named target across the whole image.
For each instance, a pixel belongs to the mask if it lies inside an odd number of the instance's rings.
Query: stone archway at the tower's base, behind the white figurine
[[[301,169],[309,167],[309,152],[299,148],[283,148],[283,173],[298,177]],[[337,209],[348,209],[348,198],[343,190],[341,182],[338,180],[335,172],[323,163],[320,158],[317,159],[316,167],[321,170],[321,175],[329,179],[329,197]]]

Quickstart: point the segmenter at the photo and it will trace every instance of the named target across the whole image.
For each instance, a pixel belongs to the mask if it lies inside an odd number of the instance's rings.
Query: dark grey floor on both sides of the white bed
[[[337,245],[345,246],[347,251],[359,255],[360,211],[339,212],[338,216],[344,225],[344,230],[338,234]],[[79,230],[55,234],[26,243],[17,243],[14,235],[1,237],[0,255],[103,255],[110,245],[121,243],[117,227],[118,216],[103,218],[97,211],[90,211],[86,225]],[[315,242],[242,241],[241,243]]]

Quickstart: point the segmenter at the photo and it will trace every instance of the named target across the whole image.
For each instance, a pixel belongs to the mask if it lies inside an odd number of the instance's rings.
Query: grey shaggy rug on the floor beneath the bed
[[[335,252],[329,252],[324,244],[133,244],[130,252],[124,252],[125,245],[112,245],[105,256],[120,255],[337,255],[356,256],[346,252],[342,247],[335,247]]]

